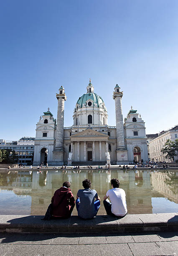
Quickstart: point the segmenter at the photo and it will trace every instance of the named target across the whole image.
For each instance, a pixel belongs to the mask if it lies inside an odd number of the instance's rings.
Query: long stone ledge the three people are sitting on
[[[92,220],[78,216],[69,219],[41,220],[40,215],[0,215],[0,232],[9,233],[80,233],[142,232],[178,230],[178,213],[132,214],[119,219],[98,215]]]

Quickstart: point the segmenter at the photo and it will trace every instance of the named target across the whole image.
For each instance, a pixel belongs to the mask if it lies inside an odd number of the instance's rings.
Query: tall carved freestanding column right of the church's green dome
[[[113,99],[115,100],[116,111],[117,164],[120,164],[120,161],[127,161],[127,150],[125,148],[124,125],[122,116],[122,96],[123,92],[120,92],[120,87],[118,84],[116,84],[114,88]]]

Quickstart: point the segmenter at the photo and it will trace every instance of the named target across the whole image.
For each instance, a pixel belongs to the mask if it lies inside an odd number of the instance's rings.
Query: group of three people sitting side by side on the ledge
[[[101,199],[95,189],[91,189],[89,179],[82,182],[84,189],[79,189],[76,200],[70,189],[70,182],[66,181],[57,189],[51,199],[53,218],[69,218],[76,204],[78,215],[82,219],[92,219],[97,215]],[[111,180],[112,189],[104,196],[104,208],[107,215],[123,217],[127,214],[125,191],[120,186],[119,179]],[[110,201],[108,200],[110,199]]]

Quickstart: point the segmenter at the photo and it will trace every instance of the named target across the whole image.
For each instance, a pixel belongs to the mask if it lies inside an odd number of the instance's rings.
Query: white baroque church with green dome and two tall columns
[[[122,117],[123,91],[116,84],[113,92],[116,126],[109,126],[107,108],[102,97],[94,92],[89,80],[84,93],[76,102],[71,127],[64,127],[64,87],[56,93],[58,100],[57,121],[49,108],[36,125],[33,165],[49,166],[102,165],[109,152],[111,164],[129,164],[148,161],[145,122],[132,107],[127,118]]]

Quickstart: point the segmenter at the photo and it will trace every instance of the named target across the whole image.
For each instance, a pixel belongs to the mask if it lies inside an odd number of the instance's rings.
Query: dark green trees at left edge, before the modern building
[[[15,151],[10,149],[0,149],[0,163],[1,164],[14,164],[18,161],[18,156]]]

